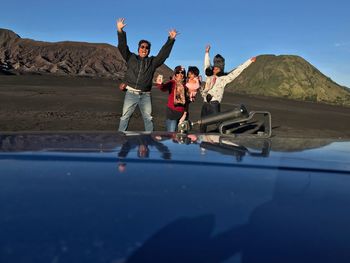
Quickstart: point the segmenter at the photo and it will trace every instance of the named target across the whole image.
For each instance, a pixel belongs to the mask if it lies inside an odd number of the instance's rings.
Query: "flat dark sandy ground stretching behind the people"
[[[107,79],[0,76],[0,131],[117,130],[124,99],[117,87]],[[165,130],[166,101],[167,93],[155,88],[155,130]],[[191,120],[199,119],[201,103],[198,97],[191,104]],[[275,137],[350,138],[350,108],[226,92],[222,110],[239,104],[271,112]],[[137,110],[129,130],[143,129]]]

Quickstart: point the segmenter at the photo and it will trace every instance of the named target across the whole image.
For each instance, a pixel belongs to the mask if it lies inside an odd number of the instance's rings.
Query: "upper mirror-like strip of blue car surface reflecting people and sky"
[[[259,165],[349,171],[350,142],[232,137],[219,134],[32,133],[2,135],[1,156],[86,158],[119,163]],[[68,160],[67,159],[67,160]],[[125,172],[128,172],[125,170]]]

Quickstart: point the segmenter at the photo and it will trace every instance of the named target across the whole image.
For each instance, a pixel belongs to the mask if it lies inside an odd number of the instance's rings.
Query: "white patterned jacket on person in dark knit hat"
[[[213,75],[213,76],[207,77],[205,82],[205,87],[201,91],[204,101],[207,102],[206,97],[208,94],[210,94],[212,96],[211,101],[218,101],[219,103],[221,103],[226,84],[230,83],[235,78],[237,78],[243,72],[244,69],[246,69],[250,64],[252,64],[252,62],[253,61],[251,59],[248,59],[242,65],[239,65],[237,68],[235,68],[225,76],[217,77]],[[211,65],[210,65],[209,53],[205,52],[204,72],[210,66]]]

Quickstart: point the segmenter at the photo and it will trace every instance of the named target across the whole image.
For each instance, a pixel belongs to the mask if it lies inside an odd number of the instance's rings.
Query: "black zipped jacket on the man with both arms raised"
[[[157,56],[141,58],[130,52],[126,42],[126,33],[124,31],[118,32],[118,48],[127,64],[124,82],[134,89],[150,91],[153,75],[156,69],[169,57],[174,42],[175,39],[168,37]]]

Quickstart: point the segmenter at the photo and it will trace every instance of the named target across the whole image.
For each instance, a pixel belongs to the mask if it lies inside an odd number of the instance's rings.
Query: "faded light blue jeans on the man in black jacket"
[[[137,105],[139,105],[142,114],[145,131],[153,131],[151,93],[135,94],[129,91],[126,91],[125,94],[123,114],[120,117],[118,131],[126,131],[130,117]]]

